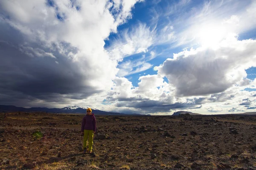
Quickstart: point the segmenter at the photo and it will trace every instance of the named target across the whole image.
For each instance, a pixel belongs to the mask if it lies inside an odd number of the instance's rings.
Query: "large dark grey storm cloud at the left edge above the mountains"
[[[86,77],[75,62],[43,47],[41,54],[52,53],[55,58],[30,56],[40,44],[30,44],[29,51],[20,45],[25,42],[19,31],[0,22],[0,104],[26,106],[36,100],[65,103],[66,99],[85,99],[99,92],[85,85]]]

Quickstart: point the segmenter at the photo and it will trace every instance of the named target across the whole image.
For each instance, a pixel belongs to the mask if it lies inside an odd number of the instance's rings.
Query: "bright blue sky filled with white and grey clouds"
[[[0,0],[0,105],[256,111],[256,0]]]

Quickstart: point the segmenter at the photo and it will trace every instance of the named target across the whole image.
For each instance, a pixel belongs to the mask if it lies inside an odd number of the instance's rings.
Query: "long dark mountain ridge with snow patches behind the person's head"
[[[38,111],[38,112],[47,112],[47,113],[86,113],[88,107],[79,107],[79,106],[70,106],[65,108],[22,108],[12,105],[0,105],[1,112],[11,112],[11,111]],[[93,113],[98,115],[142,115],[142,114],[125,114],[125,113],[116,113],[116,112],[107,112],[100,111],[96,108],[91,108]]]

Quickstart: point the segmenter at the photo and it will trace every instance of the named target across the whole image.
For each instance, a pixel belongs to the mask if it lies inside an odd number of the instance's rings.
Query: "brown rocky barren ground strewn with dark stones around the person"
[[[256,170],[256,116],[95,115],[92,154],[83,116],[0,113],[0,169]]]

